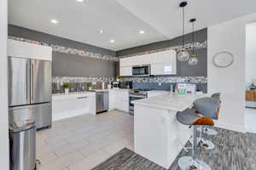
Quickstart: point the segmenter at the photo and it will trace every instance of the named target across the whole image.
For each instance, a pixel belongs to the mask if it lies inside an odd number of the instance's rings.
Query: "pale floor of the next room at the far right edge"
[[[246,108],[246,130],[248,133],[256,133],[256,109]]]

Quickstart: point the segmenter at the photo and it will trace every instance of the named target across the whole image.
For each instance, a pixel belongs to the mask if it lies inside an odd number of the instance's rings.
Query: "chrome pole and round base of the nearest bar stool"
[[[182,170],[212,170],[204,161],[196,159],[196,148],[197,148],[197,136],[196,126],[193,127],[193,143],[192,143],[192,156],[180,157],[177,161],[178,166]]]

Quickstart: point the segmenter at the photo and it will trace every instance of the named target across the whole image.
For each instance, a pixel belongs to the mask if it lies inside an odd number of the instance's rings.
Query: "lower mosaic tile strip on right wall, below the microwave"
[[[121,77],[121,82],[192,82],[207,83],[207,77]]]

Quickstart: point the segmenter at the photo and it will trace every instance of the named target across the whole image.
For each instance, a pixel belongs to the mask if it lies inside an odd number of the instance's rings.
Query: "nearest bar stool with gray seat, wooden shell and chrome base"
[[[184,111],[177,111],[177,121],[182,123],[183,125],[189,125],[193,127],[193,143],[192,143],[192,156],[183,156],[178,159],[178,166],[182,170],[211,170],[212,168],[207,165],[204,161],[198,160],[196,158],[196,127],[197,126],[213,126],[214,122],[212,118],[207,116],[200,116],[195,114],[195,112],[191,109],[186,109]]]

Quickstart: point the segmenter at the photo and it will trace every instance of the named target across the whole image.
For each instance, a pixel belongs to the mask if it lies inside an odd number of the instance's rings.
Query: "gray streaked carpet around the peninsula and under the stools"
[[[215,144],[215,148],[213,150],[198,148],[198,158],[206,161],[212,170],[255,170],[256,134],[215,129],[218,130],[218,135],[207,136]],[[190,155],[191,152],[182,150],[177,159]],[[172,163],[170,170],[180,170],[177,159]],[[93,170],[165,170],[165,168],[125,148]]]

